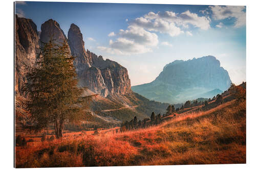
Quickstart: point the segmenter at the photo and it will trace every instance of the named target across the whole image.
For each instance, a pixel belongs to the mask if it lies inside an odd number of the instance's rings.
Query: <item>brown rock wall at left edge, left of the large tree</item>
[[[28,67],[33,67],[40,52],[39,38],[35,23],[31,19],[15,16],[15,94],[26,98],[21,91],[27,83]]]

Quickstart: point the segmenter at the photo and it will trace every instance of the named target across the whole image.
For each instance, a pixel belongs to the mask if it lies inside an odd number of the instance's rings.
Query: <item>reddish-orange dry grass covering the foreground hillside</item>
[[[245,101],[180,114],[146,129],[113,131],[16,147],[16,167],[246,163]]]

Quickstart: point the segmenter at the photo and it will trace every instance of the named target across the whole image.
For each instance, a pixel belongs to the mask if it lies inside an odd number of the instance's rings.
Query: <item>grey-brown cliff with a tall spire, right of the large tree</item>
[[[106,97],[109,94],[131,92],[131,82],[126,68],[115,61],[104,60],[84,48],[80,29],[72,23],[68,32],[71,54],[76,58],[75,66],[79,86]]]

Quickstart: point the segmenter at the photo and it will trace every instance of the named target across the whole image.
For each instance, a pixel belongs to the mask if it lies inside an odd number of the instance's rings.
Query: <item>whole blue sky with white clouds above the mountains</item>
[[[150,83],[175,60],[215,56],[235,84],[246,81],[246,7],[16,2],[16,14],[41,24],[75,23],[85,48],[128,70],[132,86]]]

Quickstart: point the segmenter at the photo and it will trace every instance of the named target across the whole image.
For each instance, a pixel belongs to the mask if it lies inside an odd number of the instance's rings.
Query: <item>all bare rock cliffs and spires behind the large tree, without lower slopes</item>
[[[17,94],[20,94],[22,85],[27,82],[27,66],[34,66],[36,55],[40,53],[44,42],[49,42],[50,37],[59,44],[64,40],[68,41],[71,53],[76,57],[74,65],[80,87],[88,87],[104,98],[109,94],[131,92],[127,69],[117,62],[104,60],[102,56],[98,57],[86,51],[82,34],[76,25],[71,25],[67,39],[58,22],[52,19],[41,25],[41,32],[37,32],[36,25],[31,19],[16,16],[15,22],[15,91]]]

